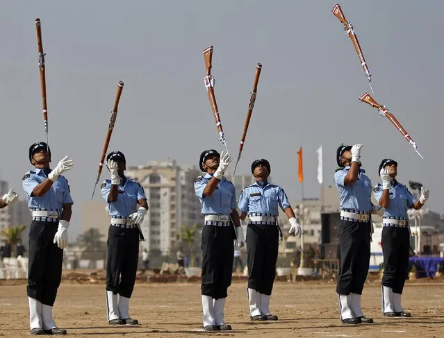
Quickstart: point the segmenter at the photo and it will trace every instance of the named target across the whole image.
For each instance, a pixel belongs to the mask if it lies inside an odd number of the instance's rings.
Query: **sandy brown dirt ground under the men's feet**
[[[365,285],[363,310],[373,324],[346,326],[338,318],[334,282],[276,282],[272,313],[279,321],[249,320],[245,283],[229,288],[225,319],[229,332],[204,332],[199,283],[138,283],[130,314],[139,326],[109,326],[105,312],[105,288],[62,282],[54,305],[54,318],[68,335],[76,337],[444,337],[444,283],[408,283],[403,305],[411,319],[381,316],[381,289],[377,282]],[[26,285],[0,285],[0,336],[30,336]]]

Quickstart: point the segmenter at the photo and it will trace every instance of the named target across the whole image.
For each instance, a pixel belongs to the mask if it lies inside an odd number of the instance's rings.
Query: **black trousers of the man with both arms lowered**
[[[276,276],[279,228],[250,223],[246,242],[248,288],[270,296]]]

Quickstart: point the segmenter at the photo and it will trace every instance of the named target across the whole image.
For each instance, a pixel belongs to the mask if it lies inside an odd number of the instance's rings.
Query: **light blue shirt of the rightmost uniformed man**
[[[378,202],[381,199],[382,192],[384,192],[382,185],[375,185],[373,194]],[[416,202],[416,198],[413,197],[405,185],[397,182],[397,180],[391,181],[389,194],[390,202],[383,217],[405,217],[407,219],[407,209]]]

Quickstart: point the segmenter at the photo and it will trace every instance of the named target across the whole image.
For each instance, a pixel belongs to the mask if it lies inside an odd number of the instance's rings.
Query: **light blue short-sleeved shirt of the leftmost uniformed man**
[[[28,195],[28,208],[44,210],[60,210],[63,204],[74,204],[69,192],[68,180],[64,176],[59,176],[49,191],[43,196],[33,196],[33,190],[40,183],[48,178],[40,168],[28,171],[23,176],[23,189]]]

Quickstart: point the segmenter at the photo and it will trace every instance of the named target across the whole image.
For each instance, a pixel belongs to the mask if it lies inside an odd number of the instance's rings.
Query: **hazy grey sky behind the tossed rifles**
[[[364,144],[363,167],[375,185],[382,158],[399,163],[399,180],[430,187],[428,208],[444,212],[442,135],[444,1],[341,1],[372,73],[375,99],[418,142],[420,160],[375,108],[352,42],[331,14],[335,1],[1,1],[1,178],[22,197],[28,147],[44,140],[35,18],[46,56],[49,144],[53,167],[65,155],[74,198],[72,230],[90,200],[113,107],[124,81],[108,151],[128,165],[174,158],[197,164],[204,149],[222,150],[204,87],[202,50],[214,46],[215,95],[233,155],[238,153],[257,62],[256,106],[238,174],[267,158],[274,183],[294,200],[297,149],[304,151],[304,191],[318,197],[334,183],[341,142]],[[234,166],[229,167],[232,172]],[[106,169],[101,180],[107,178]],[[99,191],[94,200],[100,201]]]

